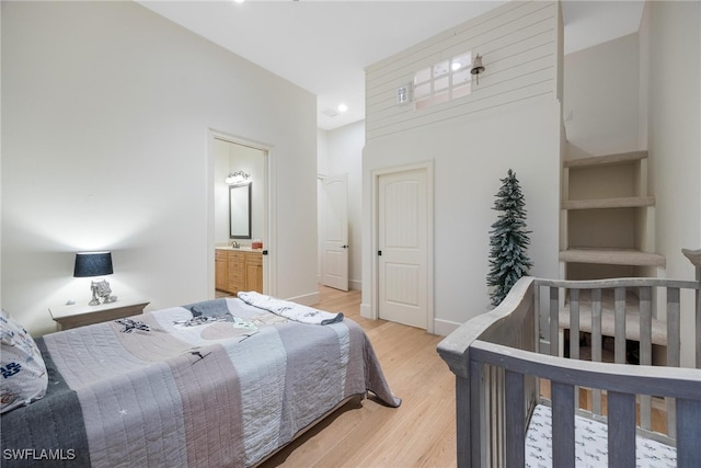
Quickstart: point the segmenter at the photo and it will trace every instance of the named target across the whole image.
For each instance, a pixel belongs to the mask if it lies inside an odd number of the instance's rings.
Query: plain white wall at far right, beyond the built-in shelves
[[[701,248],[701,3],[647,2],[643,26],[656,248],[667,259],[667,277],[692,279],[681,249]],[[692,315],[691,308],[681,311],[682,365],[689,366]]]

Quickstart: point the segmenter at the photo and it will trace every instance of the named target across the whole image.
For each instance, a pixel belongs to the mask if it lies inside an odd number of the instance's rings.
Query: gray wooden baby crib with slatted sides
[[[582,418],[606,425],[609,467],[634,467],[641,437],[676,447],[678,467],[701,467],[701,250],[683,253],[697,267],[696,281],[524,277],[497,308],[441,341],[438,353],[456,374],[458,467],[582,465],[575,450],[583,445],[575,438]],[[602,299],[609,290],[613,304]],[[581,300],[584,296],[589,297]],[[640,329],[627,331],[631,307]],[[681,310],[694,317],[680,317]],[[579,316],[587,313],[590,361],[577,358]],[[602,317],[613,323],[604,333]],[[660,322],[666,323],[662,356],[652,338]],[[567,347],[560,343],[563,323]],[[682,331],[690,323],[693,330]],[[635,345],[631,336],[639,340],[639,365],[627,363],[627,336],[629,347]],[[602,349],[610,341],[607,359]],[[696,352],[687,367],[681,367],[682,344]],[[570,357],[561,355],[565,350]],[[543,404],[552,412],[552,452],[544,457],[552,461],[544,464],[529,459],[526,448],[531,415]]]

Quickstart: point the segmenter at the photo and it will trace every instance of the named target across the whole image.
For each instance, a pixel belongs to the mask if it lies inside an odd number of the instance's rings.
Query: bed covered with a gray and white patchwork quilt
[[[3,466],[255,466],[354,396],[400,404],[357,323],[257,299],[36,339],[46,395],[2,413]]]

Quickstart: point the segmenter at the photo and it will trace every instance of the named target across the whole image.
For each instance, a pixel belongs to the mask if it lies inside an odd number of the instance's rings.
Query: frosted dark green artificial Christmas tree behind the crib
[[[526,230],[524,194],[510,169],[496,194],[494,208],[499,214],[490,231],[490,274],[486,277],[493,306],[504,300],[512,286],[533,266],[526,251],[530,239]]]

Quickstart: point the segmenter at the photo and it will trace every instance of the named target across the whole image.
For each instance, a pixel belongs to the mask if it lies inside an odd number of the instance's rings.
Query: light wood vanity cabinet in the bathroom
[[[215,265],[217,289],[230,294],[240,290],[263,293],[263,255],[260,251],[217,249]]]

